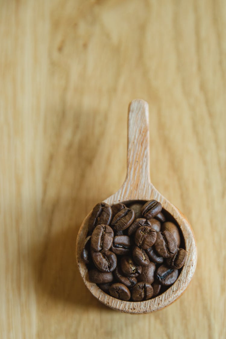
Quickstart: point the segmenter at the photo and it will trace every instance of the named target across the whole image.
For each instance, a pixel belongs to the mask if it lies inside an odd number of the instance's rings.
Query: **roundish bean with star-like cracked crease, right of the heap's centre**
[[[149,226],[142,226],[136,231],[134,241],[137,246],[146,250],[155,243],[156,230]]]

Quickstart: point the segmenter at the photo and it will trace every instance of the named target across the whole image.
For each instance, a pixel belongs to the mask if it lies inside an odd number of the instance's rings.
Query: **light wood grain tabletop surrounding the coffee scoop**
[[[226,337],[226,2],[0,0],[0,337]],[[156,188],[198,264],[165,310],[100,304],[79,226],[126,174],[127,106],[149,103]]]

